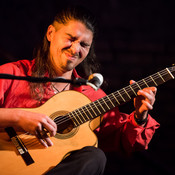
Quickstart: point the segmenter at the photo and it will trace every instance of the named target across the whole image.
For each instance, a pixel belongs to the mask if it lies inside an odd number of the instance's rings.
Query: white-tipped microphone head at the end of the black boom
[[[96,91],[100,88],[103,83],[103,76],[99,73],[91,74],[88,77],[88,81],[86,82],[87,85],[91,86]]]

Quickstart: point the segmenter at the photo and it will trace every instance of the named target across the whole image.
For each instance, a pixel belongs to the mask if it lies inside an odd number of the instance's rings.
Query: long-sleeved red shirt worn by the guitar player
[[[20,60],[0,66],[0,73],[16,76],[31,76],[34,60]],[[76,71],[75,77],[79,77]],[[104,97],[103,90],[93,90],[89,86],[73,88],[85,94],[91,101]],[[44,87],[44,97],[38,101],[30,96],[30,86],[27,81],[0,79],[0,107],[2,108],[33,108],[44,104],[54,94],[49,83]],[[145,127],[135,123],[134,115],[120,113],[118,108],[107,112],[99,128],[95,130],[98,136],[99,147],[104,151],[132,152],[147,149],[148,144],[159,124],[149,115]]]

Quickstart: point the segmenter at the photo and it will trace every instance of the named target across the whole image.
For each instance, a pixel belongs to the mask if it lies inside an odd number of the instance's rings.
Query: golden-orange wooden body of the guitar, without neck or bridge
[[[22,110],[44,113],[53,118],[53,114],[59,117],[88,103],[90,100],[85,95],[76,91],[64,91],[38,108],[22,108]],[[99,125],[99,121],[100,117],[65,134],[56,134],[55,137],[51,137],[53,146],[48,148],[44,148],[35,136],[20,134],[19,137],[34,160],[29,166],[25,164],[8,135],[5,132],[0,133],[0,174],[41,175],[56,166],[71,151],[85,146],[97,146],[97,138],[92,130]]]

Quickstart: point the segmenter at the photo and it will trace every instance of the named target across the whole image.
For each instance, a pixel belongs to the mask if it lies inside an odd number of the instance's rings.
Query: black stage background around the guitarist
[[[0,2],[0,64],[32,59],[42,29],[57,8],[71,1],[6,0]],[[80,0],[97,17],[96,53],[107,93],[175,63],[175,1],[170,0]],[[161,124],[149,149],[110,162],[108,174],[175,174],[175,81],[158,87],[151,115]],[[132,102],[120,107],[133,110]],[[120,166],[117,166],[119,164]]]

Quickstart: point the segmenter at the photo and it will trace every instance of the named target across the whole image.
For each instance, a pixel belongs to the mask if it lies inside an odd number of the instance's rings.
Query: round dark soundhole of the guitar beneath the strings
[[[73,121],[68,116],[59,116],[54,119],[57,124],[57,133],[67,134],[74,128]]]

